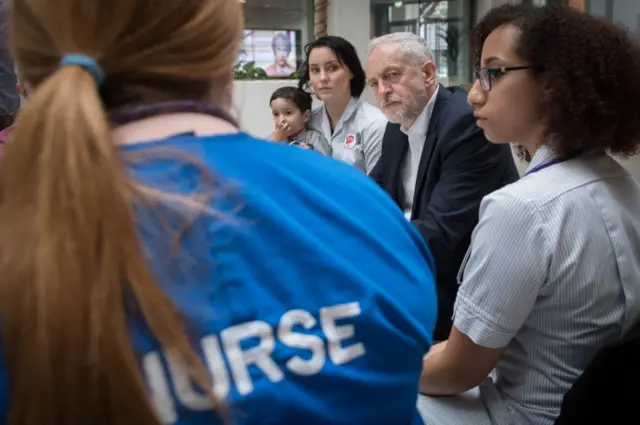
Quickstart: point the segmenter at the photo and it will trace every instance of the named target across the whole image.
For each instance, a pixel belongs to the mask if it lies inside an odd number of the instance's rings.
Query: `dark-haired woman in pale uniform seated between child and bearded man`
[[[360,99],[365,74],[358,53],[342,37],[325,36],[305,47],[298,87],[312,89],[324,104],[310,127],[331,142],[333,157],[371,172],[380,158],[387,118]]]

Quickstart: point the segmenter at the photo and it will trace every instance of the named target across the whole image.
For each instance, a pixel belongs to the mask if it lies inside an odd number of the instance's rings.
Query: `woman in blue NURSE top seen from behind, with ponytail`
[[[359,171],[238,130],[237,0],[10,15],[1,424],[420,423],[429,253]]]

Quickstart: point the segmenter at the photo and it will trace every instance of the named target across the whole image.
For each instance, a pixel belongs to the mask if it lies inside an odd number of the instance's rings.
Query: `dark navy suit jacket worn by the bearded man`
[[[457,274],[478,223],[482,198],[519,178],[508,144],[492,144],[476,126],[467,92],[440,87],[420,158],[411,220],[436,264],[438,323],[434,338],[449,337]],[[371,177],[402,208],[401,170],[409,148],[399,124],[387,125],[382,155]]]

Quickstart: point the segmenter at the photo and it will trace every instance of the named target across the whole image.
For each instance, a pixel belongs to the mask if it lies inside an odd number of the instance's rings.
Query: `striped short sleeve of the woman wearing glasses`
[[[454,309],[474,343],[503,348],[522,327],[547,279],[551,249],[535,206],[504,191],[480,207]]]

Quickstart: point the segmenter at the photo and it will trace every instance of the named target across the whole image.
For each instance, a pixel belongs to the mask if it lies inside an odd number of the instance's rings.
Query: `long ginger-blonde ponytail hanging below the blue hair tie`
[[[158,341],[213,388],[154,281],[92,76],[32,93],[0,167],[0,321],[11,425],[157,425],[131,346],[132,297]]]

